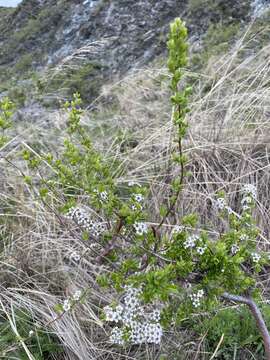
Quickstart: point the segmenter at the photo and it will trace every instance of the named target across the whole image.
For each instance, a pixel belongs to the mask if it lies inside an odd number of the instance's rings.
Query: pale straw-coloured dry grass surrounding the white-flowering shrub
[[[191,176],[175,216],[180,219],[182,214],[195,211],[201,215],[201,226],[212,228],[216,214],[211,199],[216,191],[224,190],[230,205],[238,211],[241,184],[253,183],[259,193],[256,210],[262,232],[259,246],[268,248],[269,46],[241,60],[239,54],[247,52],[250,46],[243,39],[230,54],[211,63],[205,74],[187,74],[187,78],[197,79],[185,141]],[[98,134],[94,141],[105,156],[116,158],[119,168],[125,170],[119,182],[139,180],[150,184],[152,209],[158,208],[159,194],[167,193],[168,181],[177,171],[170,162],[174,143],[167,85],[164,68],[138,70],[113,86],[104,86],[96,101],[97,109],[83,118],[92,132]],[[51,143],[61,143],[64,136],[63,114],[55,112],[50,116],[55,128],[42,131],[41,151]],[[33,127],[38,133],[39,125]],[[22,141],[33,146],[33,127],[22,131],[14,140],[16,147],[6,153],[12,162],[16,162],[16,149]],[[119,131],[121,136],[116,137]],[[37,137],[35,141],[40,140]],[[16,166],[21,168],[20,161]],[[22,183],[18,169],[7,167],[4,159],[0,160],[0,174],[3,204],[0,304],[14,332],[13,309],[21,307],[32,314],[36,326],[45,326],[57,335],[63,346],[57,359],[158,359],[161,354],[179,360],[211,357],[204,351],[204,338],[190,340],[191,335],[185,330],[168,331],[161,349],[112,347],[99,314],[100,307],[110,302],[114,294],[104,292],[95,283],[96,275],[107,271],[93,265],[96,249],[79,240],[79,231],[71,223],[63,218],[59,222],[58,216]],[[74,251],[81,254],[79,263],[70,260]],[[59,317],[55,305],[76,289],[89,289],[85,301]],[[31,349],[26,346],[25,352],[28,351]],[[31,359],[31,355],[28,357]],[[9,355],[3,358],[9,359]]]

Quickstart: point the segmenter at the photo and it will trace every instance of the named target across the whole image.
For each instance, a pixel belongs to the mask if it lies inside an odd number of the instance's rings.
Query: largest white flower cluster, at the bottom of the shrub
[[[106,306],[104,308],[105,320],[118,324],[114,327],[110,341],[114,344],[123,345],[124,334],[127,334],[126,340],[132,344],[159,344],[162,337],[162,328],[159,323],[160,311],[158,309],[146,313],[141,305],[139,296],[141,289],[127,287],[123,305],[118,304],[115,307]],[[122,327],[119,327],[119,324]]]

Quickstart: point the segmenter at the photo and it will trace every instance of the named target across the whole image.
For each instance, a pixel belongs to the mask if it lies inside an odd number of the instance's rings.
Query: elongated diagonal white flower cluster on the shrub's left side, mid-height
[[[99,237],[107,230],[107,227],[104,223],[95,222],[90,219],[84,209],[78,207],[71,208],[66,216],[75,221],[75,223],[84,230],[91,232],[94,237]]]

